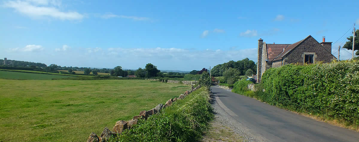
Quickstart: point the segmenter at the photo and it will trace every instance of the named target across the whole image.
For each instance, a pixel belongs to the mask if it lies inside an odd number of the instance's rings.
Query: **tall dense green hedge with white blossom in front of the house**
[[[262,76],[269,104],[345,119],[359,126],[359,61],[270,68]]]

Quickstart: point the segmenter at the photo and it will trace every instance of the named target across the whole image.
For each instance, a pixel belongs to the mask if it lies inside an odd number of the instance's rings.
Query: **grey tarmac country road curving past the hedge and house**
[[[261,141],[359,142],[359,133],[262,103],[229,90],[211,87],[222,111]]]

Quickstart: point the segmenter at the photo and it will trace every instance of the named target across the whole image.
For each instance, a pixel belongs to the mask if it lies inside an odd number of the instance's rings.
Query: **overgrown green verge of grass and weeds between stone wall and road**
[[[160,113],[139,122],[110,141],[134,142],[194,142],[202,138],[208,122],[213,119],[206,87],[177,100]]]

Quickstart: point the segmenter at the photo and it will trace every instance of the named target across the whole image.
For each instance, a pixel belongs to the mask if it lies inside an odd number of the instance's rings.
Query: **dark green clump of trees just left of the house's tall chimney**
[[[227,63],[216,65],[212,68],[211,75],[212,76],[224,76],[223,73],[228,68],[236,68],[237,70],[239,70],[241,72],[240,75],[244,75],[244,73],[248,69],[252,69],[254,72],[257,72],[256,63],[252,60],[249,60],[248,58],[245,58],[245,59],[243,59],[241,61],[237,61],[237,62],[229,61]]]

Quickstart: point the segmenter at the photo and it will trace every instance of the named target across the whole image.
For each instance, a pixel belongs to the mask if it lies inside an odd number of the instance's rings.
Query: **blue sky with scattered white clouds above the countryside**
[[[359,29],[359,1],[0,1],[0,58],[60,66],[201,70],[257,62],[258,39],[333,42]],[[348,31],[348,32],[347,32]],[[341,49],[340,59],[351,58]]]

